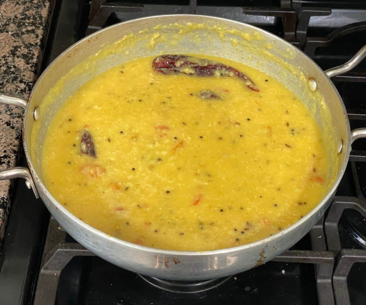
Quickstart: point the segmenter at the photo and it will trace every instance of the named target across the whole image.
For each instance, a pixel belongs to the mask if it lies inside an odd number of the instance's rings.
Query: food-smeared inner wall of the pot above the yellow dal
[[[338,142],[342,139],[346,145],[349,140],[344,109],[328,78],[298,49],[275,36],[242,23],[197,15],[150,17],[112,26],[80,41],[51,64],[34,90],[25,126],[25,148],[30,150],[31,162],[41,179],[48,126],[67,98],[111,67],[159,53],[226,57],[255,67],[287,86],[311,110],[325,135],[330,188],[345,158],[346,149],[337,153]],[[315,92],[309,89],[309,79],[317,83]],[[34,122],[36,106],[40,119]]]

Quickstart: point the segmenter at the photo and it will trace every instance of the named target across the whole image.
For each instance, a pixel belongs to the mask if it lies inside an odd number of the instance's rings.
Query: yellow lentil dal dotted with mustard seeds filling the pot
[[[98,75],[61,107],[42,168],[70,212],[138,245],[200,251],[276,234],[321,200],[328,155],[305,105],[258,70],[197,56],[245,73],[259,92],[237,77],[157,73],[152,56]],[[85,130],[95,158],[81,152]]]

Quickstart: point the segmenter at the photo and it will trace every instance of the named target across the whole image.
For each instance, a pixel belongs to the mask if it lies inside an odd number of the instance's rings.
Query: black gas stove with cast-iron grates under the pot
[[[159,14],[250,23],[291,42],[324,70],[346,62],[366,44],[364,0],[63,0],[53,7],[44,68],[87,34]],[[351,129],[365,127],[366,61],[332,81]],[[309,234],[264,265],[206,281],[161,280],[107,263],[75,242],[42,201],[18,183],[0,253],[1,304],[365,304],[366,140],[352,148],[336,197]],[[24,156],[21,160],[25,163]]]

